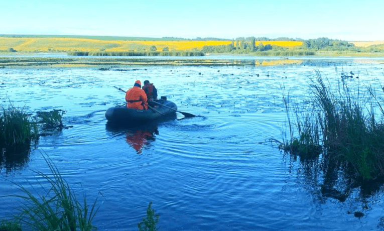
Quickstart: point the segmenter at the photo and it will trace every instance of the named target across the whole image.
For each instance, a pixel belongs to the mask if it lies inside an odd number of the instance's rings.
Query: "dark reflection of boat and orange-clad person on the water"
[[[122,126],[121,124],[108,122],[105,127],[109,132],[125,135],[126,143],[133,147],[138,154],[141,154],[145,146],[150,145],[151,142],[156,140],[156,135],[159,135],[159,124],[175,120],[176,117],[176,114],[172,114],[168,117],[139,125],[125,124]]]

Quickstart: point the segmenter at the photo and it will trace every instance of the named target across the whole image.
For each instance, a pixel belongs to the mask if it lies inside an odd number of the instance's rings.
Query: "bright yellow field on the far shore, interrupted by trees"
[[[232,41],[105,41],[96,39],[75,38],[5,38],[0,37],[0,51],[13,48],[19,52],[47,51],[148,51],[156,46],[157,51],[168,47],[170,51],[201,50],[203,46],[227,45]],[[283,47],[301,46],[301,41],[257,41],[263,45],[271,44]]]

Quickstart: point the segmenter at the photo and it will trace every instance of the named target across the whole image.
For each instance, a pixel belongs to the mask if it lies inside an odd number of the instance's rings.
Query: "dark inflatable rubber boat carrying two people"
[[[153,109],[148,108],[148,110],[127,108],[126,106],[114,106],[106,110],[105,118],[108,120],[108,122],[133,124],[154,121],[158,118],[167,117],[176,113],[177,106],[174,102],[168,100],[159,100],[159,103],[171,107],[174,110],[161,105],[154,106]]]

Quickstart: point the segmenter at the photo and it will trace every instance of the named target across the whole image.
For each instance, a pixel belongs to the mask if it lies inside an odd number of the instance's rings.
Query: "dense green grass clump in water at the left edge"
[[[30,144],[38,138],[38,129],[25,108],[12,104],[0,112],[0,147],[16,147]]]

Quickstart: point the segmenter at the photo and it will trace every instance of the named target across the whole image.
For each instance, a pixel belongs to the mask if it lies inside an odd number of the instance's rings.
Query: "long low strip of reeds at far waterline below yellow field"
[[[67,54],[74,56],[204,56],[200,51],[70,51]]]

